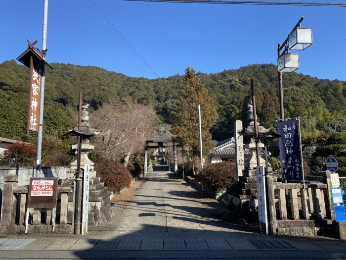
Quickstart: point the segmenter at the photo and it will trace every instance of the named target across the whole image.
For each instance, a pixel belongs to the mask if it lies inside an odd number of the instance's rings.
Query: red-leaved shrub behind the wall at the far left
[[[36,146],[28,143],[14,143],[6,146],[0,160],[1,165],[19,167],[34,167],[36,160]]]

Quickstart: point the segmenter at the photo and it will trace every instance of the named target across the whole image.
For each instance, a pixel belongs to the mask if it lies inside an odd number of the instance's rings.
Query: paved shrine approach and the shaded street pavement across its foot
[[[346,259],[346,241],[265,236],[168,172],[152,172],[125,210],[86,236],[0,236],[0,259]],[[124,207],[124,206],[118,206]]]

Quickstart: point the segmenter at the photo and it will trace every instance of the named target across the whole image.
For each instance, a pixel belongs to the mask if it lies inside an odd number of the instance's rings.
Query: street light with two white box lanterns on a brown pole
[[[288,35],[283,44],[278,44],[277,47],[281,120],[285,118],[282,72],[293,72],[296,69],[299,69],[299,54],[289,53],[289,50],[303,51],[312,44],[312,29],[301,28],[301,22],[303,19],[304,16],[302,16],[298,21],[297,25],[293,28],[292,32]],[[282,49],[284,50],[282,51]]]

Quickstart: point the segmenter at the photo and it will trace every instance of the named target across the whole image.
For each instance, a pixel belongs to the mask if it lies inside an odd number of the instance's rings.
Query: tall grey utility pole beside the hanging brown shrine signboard
[[[47,41],[47,18],[48,18],[48,0],[43,1],[43,27],[42,27],[42,52],[46,49]],[[45,54],[44,54],[45,55]],[[43,56],[45,59],[45,56]],[[42,156],[42,132],[43,132],[43,101],[44,101],[44,81],[45,81],[45,64],[42,62],[41,67],[41,93],[40,93],[40,125],[37,138],[36,154],[36,177],[41,175],[41,156]]]

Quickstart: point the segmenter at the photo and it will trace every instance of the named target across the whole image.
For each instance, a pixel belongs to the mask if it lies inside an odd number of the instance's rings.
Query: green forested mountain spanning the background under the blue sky
[[[128,77],[92,66],[52,63],[46,69],[44,133],[60,138],[77,124],[79,92],[93,109],[130,96],[152,105],[162,121],[169,121],[182,76],[163,79]],[[278,74],[273,64],[254,64],[220,73],[199,72],[216,104],[217,123],[213,137],[233,136],[233,121],[245,118],[244,99],[249,95],[250,79],[257,91],[257,111],[261,125],[275,127],[279,118]],[[298,73],[284,73],[285,117],[307,116],[302,120],[303,137],[344,131],[346,127],[346,82],[322,80]],[[23,139],[26,133],[29,69],[14,60],[0,64],[0,137]],[[197,108],[196,108],[197,109]],[[203,109],[203,107],[202,107]],[[72,120],[73,119],[73,120]],[[35,135],[35,134],[34,134]]]

